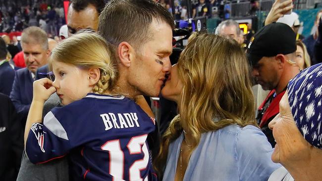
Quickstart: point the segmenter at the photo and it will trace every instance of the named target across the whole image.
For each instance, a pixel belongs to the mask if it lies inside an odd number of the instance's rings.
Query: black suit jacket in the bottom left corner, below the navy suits
[[[23,130],[10,98],[0,93],[0,178],[15,181],[23,152]]]

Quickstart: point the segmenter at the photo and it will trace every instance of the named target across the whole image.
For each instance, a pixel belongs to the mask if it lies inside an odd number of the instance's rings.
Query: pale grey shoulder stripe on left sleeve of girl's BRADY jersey
[[[67,136],[65,129],[62,127],[60,122],[54,116],[52,111],[50,111],[49,113],[46,114],[46,116],[44,118],[44,125],[55,136],[68,140],[68,136]]]

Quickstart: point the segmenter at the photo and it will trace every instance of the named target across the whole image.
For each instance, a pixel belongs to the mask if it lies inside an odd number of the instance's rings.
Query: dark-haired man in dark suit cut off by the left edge
[[[4,40],[0,38],[0,93],[9,96],[14,80],[14,70],[6,60],[7,50]]]

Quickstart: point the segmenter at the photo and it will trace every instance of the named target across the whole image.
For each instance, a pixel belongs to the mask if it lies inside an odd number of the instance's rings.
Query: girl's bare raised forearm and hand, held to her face
[[[33,99],[25,127],[25,146],[32,124],[42,122],[44,103],[55,91],[56,89],[53,87],[53,82],[47,78],[40,79],[34,82]]]

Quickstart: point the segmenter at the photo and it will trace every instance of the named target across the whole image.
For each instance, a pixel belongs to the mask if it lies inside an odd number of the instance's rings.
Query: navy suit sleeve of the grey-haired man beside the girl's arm
[[[12,85],[12,90],[10,92],[10,99],[16,108],[18,113],[22,113],[23,115],[27,115],[30,109],[30,104],[23,104],[21,102],[21,95],[20,95],[20,81],[18,76],[18,71],[15,72],[14,81]]]

